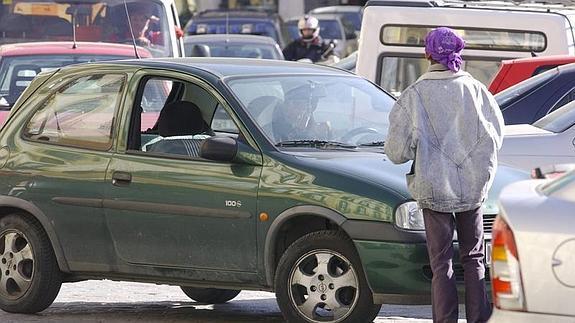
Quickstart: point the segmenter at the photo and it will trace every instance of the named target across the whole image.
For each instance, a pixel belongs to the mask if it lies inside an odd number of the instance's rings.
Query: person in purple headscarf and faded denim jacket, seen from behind
[[[397,100],[389,115],[385,152],[413,160],[408,188],[423,210],[432,279],[434,322],[457,322],[453,232],[465,271],[468,322],[486,322],[483,214],[503,141],[503,117],[493,96],[461,70],[462,38],[445,27],[425,38],[431,65]]]

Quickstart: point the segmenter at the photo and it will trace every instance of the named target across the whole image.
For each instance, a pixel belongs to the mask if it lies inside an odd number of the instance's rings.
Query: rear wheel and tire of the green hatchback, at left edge
[[[0,219],[0,269],[0,308],[6,312],[40,312],[54,302],[62,286],[46,232],[23,215]]]

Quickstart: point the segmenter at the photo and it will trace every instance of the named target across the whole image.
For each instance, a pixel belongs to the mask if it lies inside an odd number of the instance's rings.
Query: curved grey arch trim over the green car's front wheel
[[[275,266],[273,246],[275,246],[278,233],[280,232],[281,227],[288,220],[300,215],[315,215],[323,217],[335,222],[339,227],[341,227],[342,224],[347,221],[347,218],[340,213],[325,207],[315,205],[298,205],[280,213],[280,215],[278,215],[270,225],[264,245],[264,268],[266,274],[266,282],[269,286],[273,286],[274,281]]]

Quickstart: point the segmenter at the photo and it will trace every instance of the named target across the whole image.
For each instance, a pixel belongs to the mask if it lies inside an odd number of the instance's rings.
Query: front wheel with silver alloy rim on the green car
[[[312,232],[290,245],[275,289],[287,322],[371,322],[381,308],[352,241],[340,231]]]

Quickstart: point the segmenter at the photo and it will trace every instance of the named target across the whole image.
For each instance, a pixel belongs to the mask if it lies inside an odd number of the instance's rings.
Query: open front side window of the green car
[[[239,132],[216,97],[193,82],[148,77],[141,81],[137,92],[129,151],[158,157],[200,158],[205,139],[216,132]],[[153,108],[146,108],[150,106]]]

